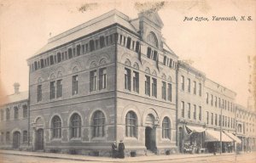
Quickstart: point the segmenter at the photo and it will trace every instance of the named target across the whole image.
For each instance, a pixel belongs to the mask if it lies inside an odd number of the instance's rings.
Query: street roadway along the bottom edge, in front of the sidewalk
[[[137,157],[137,160],[115,160],[115,162],[161,162],[161,163],[169,163],[169,162],[175,162],[175,163],[181,163],[181,162],[237,162],[237,163],[255,163],[256,162],[256,153],[250,153],[245,155],[212,155],[207,157],[195,157],[195,158],[179,158],[175,160],[168,160],[165,157],[165,160],[140,160],[140,158],[143,157]],[[170,159],[172,159],[172,156],[170,155]],[[236,159],[236,161],[235,161]],[[49,159],[44,157],[35,157],[35,156],[24,156],[24,155],[2,155],[1,157],[1,163],[80,163],[80,162],[99,162],[97,161],[82,161],[82,160],[65,160],[65,159]],[[104,158],[102,158],[102,161],[104,162]],[[107,160],[106,162],[109,162]]]

